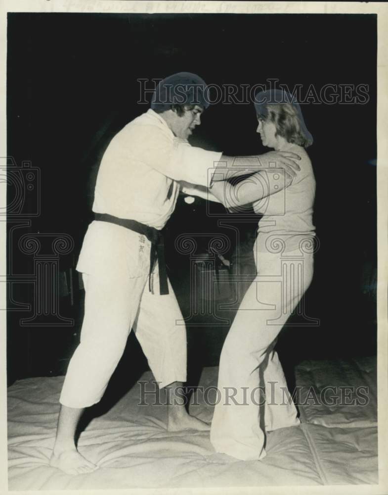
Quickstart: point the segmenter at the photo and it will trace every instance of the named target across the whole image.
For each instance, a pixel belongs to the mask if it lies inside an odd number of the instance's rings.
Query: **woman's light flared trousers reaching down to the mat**
[[[255,259],[258,276],[222,348],[219,400],[210,437],[217,452],[243,460],[265,456],[265,430],[300,423],[273,347],[313,272],[313,255],[299,249],[283,254],[260,252]],[[265,400],[259,387],[265,388]]]

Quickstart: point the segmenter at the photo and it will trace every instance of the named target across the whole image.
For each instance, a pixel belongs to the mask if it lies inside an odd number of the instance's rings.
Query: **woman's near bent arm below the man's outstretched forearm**
[[[235,208],[266,198],[288,187],[292,177],[282,170],[257,172],[232,185],[227,181],[213,182],[210,190],[226,208]]]

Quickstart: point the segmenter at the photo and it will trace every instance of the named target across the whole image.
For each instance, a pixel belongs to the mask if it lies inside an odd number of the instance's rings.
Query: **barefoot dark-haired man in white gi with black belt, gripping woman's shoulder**
[[[167,387],[169,431],[209,429],[189,416],[176,390],[186,380],[186,331],[167,279],[161,229],[170,218],[179,182],[207,187],[214,173],[277,162],[295,175],[294,153],[235,159],[187,142],[209,103],[205,82],[181,72],[161,81],[151,109],[129,122],[106,149],[93,212],[77,270],[85,285],[81,342],[70,361],[50,464],[69,474],[98,466],[78,452],[75,431],[86,407],[97,403],[123,354],[131,328],[160,387]],[[218,174],[219,175],[219,174]],[[222,175],[219,175],[222,178]]]

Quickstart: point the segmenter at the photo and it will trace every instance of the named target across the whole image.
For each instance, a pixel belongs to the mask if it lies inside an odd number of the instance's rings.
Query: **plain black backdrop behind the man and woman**
[[[41,172],[40,215],[21,232],[72,236],[72,254],[60,259],[67,275],[91,218],[102,153],[148,108],[136,103],[138,78],[190,71],[218,85],[253,86],[269,78],[289,88],[302,84],[304,91],[310,84],[318,91],[329,83],[368,85],[366,104],[302,105],[314,137],[308,153],[320,242],[306,311],[320,324],[285,328],[279,351],[290,368],[300,359],[375,352],[376,15],[9,13],[7,47],[7,155],[18,165],[30,160]],[[205,112],[191,142],[228,155],[265,152],[256,126],[253,105],[219,103]],[[12,194],[8,185],[8,202]],[[213,211],[225,215],[221,206]],[[167,226],[170,275],[184,315],[189,261],[176,254],[174,240],[183,232],[224,232],[206,212],[205,201],[188,205],[179,198]],[[258,219],[251,215],[248,228]],[[32,257],[19,252],[10,235],[8,250],[13,272],[33,272]],[[34,297],[31,284],[11,286],[12,300]],[[83,311],[83,291],[74,280],[73,289],[59,306],[74,318],[71,328],[21,326],[28,311],[8,312],[10,382],[65,372]],[[193,373],[217,364],[226,332],[227,326],[188,327]],[[146,364],[133,336],[130,344],[125,363],[138,373]]]

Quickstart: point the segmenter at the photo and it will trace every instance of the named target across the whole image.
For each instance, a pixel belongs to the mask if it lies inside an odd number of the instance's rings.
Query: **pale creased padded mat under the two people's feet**
[[[345,368],[342,361],[309,361],[298,368],[297,384],[302,390],[369,384],[375,393],[373,372],[371,359]],[[216,368],[205,368],[200,384],[216,385],[216,375]],[[141,380],[151,382],[151,373]],[[80,437],[80,451],[100,469],[69,476],[48,465],[62,383],[63,377],[30,378],[8,389],[10,490],[377,483],[373,394],[367,407],[301,408],[302,426],[269,433],[267,456],[247,462],[215,453],[209,432],[167,432],[166,406],[139,405],[138,384]],[[210,421],[212,407],[200,404],[191,412]]]

